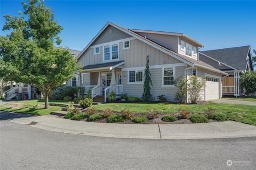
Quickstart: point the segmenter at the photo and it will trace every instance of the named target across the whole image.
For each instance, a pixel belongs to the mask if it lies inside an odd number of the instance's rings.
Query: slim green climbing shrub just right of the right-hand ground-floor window
[[[174,80],[174,86],[177,87],[175,97],[179,100],[179,103],[182,103],[182,101],[186,98],[186,81],[187,80],[185,77],[179,77]]]

